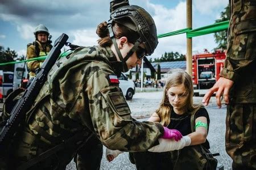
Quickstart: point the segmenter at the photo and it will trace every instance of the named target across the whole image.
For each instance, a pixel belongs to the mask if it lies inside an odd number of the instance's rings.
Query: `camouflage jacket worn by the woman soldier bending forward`
[[[119,83],[110,80],[113,56],[108,47],[92,46],[56,62],[27,118],[41,141],[61,142],[88,127],[112,150],[145,151],[157,144],[163,126],[133,120]]]

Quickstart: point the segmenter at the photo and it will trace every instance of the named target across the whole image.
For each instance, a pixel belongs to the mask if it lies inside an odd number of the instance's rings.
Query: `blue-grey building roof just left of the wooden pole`
[[[186,61],[170,61],[170,62],[152,62],[155,70],[158,70],[158,64],[162,73],[166,73],[172,69],[186,69]]]

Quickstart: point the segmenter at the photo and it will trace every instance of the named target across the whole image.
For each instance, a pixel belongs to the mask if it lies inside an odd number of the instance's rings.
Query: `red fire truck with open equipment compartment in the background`
[[[195,54],[192,57],[192,78],[195,96],[204,95],[220,78],[220,71],[224,67],[226,55],[221,50],[209,53]]]

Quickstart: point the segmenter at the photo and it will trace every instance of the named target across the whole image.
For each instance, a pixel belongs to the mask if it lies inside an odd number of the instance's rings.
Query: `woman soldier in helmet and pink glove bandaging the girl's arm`
[[[99,45],[77,48],[49,71],[47,82],[26,114],[24,127],[19,129],[9,166],[65,169],[94,136],[106,147],[121,151],[146,151],[158,145],[160,137],[182,137],[179,131],[160,123],[131,118],[117,75],[154,52],[156,27],[139,6],[126,2],[125,6],[112,7],[108,24],[98,25]],[[123,11],[127,13],[118,15]]]

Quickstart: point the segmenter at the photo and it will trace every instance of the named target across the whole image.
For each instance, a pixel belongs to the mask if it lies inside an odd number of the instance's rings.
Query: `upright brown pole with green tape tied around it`
[[[192,0],[187,0],[187,28],[192,28]],[[192,75],[192,38],[187,38],[187,73]]]

